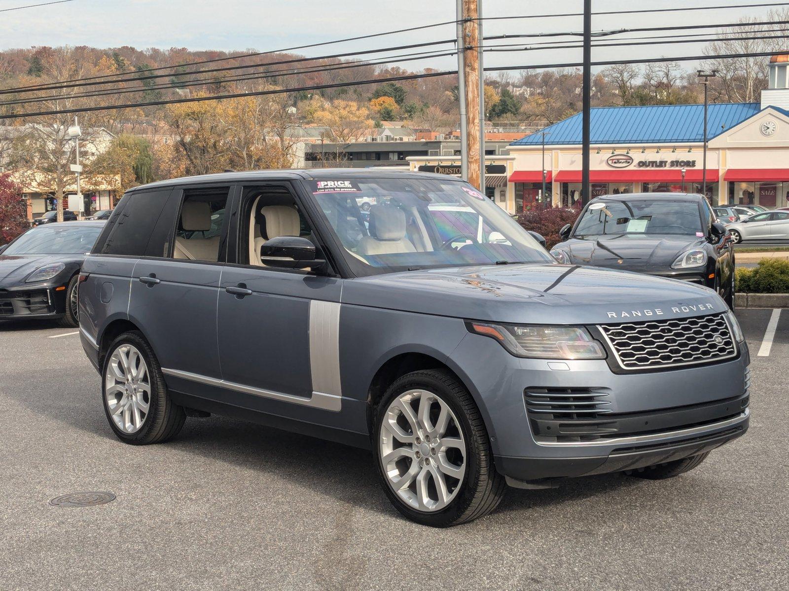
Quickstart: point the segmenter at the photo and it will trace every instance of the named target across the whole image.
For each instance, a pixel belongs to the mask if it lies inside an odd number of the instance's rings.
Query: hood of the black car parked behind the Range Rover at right
[[[570,255],[573,264],[638,269],[671,266],[683,252],[701,247],[704,243],[703,236],[620,234],[572,238],[557,244],[555,248]],[[622,262],[619,263],[619,260]]]

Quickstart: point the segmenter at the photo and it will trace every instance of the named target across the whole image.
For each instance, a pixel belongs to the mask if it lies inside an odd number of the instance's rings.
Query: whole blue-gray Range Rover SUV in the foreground
[[[121,440],[217,413],[371,448],[394,506],[432,526],[487,514],[507,485],[682,474],[748,426],[748,348],[720,296],[558,264],[452,177],[134,188],[79,285]]]

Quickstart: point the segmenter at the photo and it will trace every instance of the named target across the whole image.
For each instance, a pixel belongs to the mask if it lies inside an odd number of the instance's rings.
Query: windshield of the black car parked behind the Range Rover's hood
[[[698,204],[693,201],[598,200],[586,208],[573,232],[577,238],[612,234],[704,236]]]

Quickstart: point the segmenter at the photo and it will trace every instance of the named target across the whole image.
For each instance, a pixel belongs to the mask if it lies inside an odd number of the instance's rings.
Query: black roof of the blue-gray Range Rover
[[[370,178],[421,178],[434,177],[443,180],[461,180],[446,174],[418,173],[410,170],[387,169],[282,169],[282,170],[249,170],[241,173],[204,174],[199,177],[181,177],[178,179],[159,180],[155,183],[143,184],[129,191],[141,189],[173,187],[181,184],[202,183],[251,183],[256,180],[312,180],[312,179],[370,179]]]

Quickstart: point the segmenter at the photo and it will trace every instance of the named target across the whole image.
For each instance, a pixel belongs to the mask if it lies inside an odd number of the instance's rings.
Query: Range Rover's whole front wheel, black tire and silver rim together
[[[406,374],[376,411],[373,448],[389,499],[428,526],[469,522],[493,511],[504,479],[466,388],[442,370]]]

